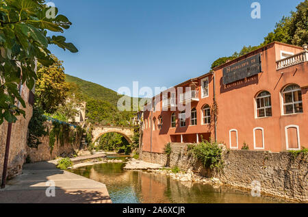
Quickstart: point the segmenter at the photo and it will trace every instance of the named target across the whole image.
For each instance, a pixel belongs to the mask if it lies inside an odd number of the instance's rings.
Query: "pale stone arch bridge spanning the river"
[[[133,136],[133,127],[110,127],[94,125],[92,129],[93,142],[96,142],[105,133],[119,133],[131,144],[131,137]]]

